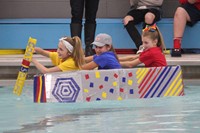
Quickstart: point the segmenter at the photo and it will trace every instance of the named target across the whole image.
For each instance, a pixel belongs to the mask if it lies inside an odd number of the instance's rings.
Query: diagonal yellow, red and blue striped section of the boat
[[[140,98],[184,95],[182,71],[179,68],[168,66],[138,69],[136,75]]]

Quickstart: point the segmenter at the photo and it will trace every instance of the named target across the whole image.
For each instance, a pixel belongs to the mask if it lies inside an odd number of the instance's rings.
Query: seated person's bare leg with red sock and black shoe
[[[181,57],[181,40],[186,24],[193,26],[200,20],[200,0],[179,0],[181,5],[174,15],[174,48],[172,57]]]

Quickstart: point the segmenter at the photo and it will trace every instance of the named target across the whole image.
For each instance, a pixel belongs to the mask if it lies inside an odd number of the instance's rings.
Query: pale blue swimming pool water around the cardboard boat
[[[19,97],[0,88],[3,133],[199,133],[200,86],[185,96],[89,103],[33,103],[32,87]]]

